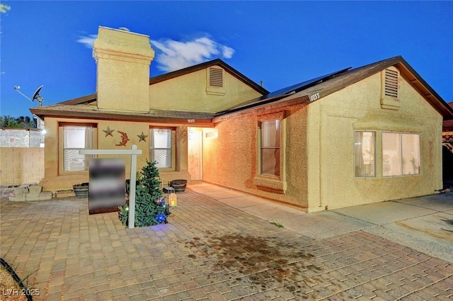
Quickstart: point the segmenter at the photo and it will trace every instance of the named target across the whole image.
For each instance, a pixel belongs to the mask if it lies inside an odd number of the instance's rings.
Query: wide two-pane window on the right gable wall
[[[420,174],[420,135],[382,133],[382,176]]]

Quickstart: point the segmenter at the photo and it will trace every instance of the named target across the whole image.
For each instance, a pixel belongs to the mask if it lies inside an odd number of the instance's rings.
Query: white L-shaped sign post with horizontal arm
[[[81,149],[79,154],[130,154],[130,193],[129,193],[129,229],[135,227],[135,181],[137,171],[137,154],[142,154],[142,149],[132,145],[132,149]]]

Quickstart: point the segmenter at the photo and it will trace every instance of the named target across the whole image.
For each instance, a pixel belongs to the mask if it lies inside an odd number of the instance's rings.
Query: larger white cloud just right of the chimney
[[[207,37],[195,38],[188,42],[171,39],[151,40],[151,45],[156,50],[154,61],[158,64],[157,68],[166,72],[200,64],[214,57],[229,59],[234,54],[233,48]]]

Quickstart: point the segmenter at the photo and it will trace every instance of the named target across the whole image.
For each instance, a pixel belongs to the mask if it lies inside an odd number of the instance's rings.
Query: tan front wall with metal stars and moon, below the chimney
[[[69,119],[69,118],[45,118],[47,134],[45,136],[45,177],[41,185],[47,191],[59,191],[71,189],[75,183],[83,183],[88,181],[88,171],[64,173],[59,167],[59,123],[93,123],[97,125],[97,135],[95,135],[95,148],[97,149],[131,149],[132,144],[137,145],[137,149],[142,150],[142,155],[137,156],[137,170],[141,170],[149,158],[149,127],[159,125],[153,123],[137,123],[127,121],[113,120],[89,120],[89,119]],[[176,178],[186,178],[190,180],[188,174],[187,161],[187,139],[178,139],[180,137],[181,128],[178,125],[160,125],[166,127],[176,127],[176,170],[161,171],[160,176],[164,183]],[[112,135],[106,136],[103,130],[115,130]],[[118,130],[127,133],[130,141],[126,146],[116,146],[121,142],[121,135]],[[146,137],[146,142],[139,141],[137,135],[142,132]],[[98,157],[117,157],[117,156],[98,156]],[[122,155],[125,158],[126,178],[130,177],[130,156]]]

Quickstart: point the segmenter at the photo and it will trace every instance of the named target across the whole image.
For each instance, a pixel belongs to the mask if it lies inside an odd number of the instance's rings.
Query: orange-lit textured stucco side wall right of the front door
[[[258,120],[254,113],[216,125],[217,139],[203,140],[203,180],[271,200],[306,208],[306,109],[285,108],[284,136],[286,191],[258,187]]]

